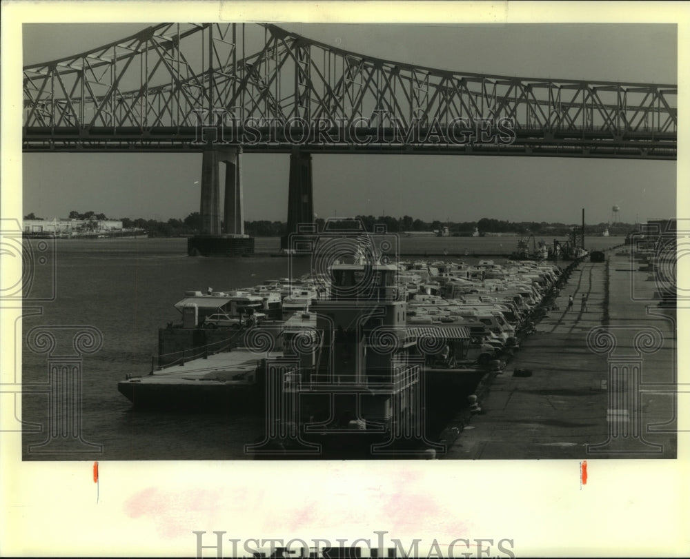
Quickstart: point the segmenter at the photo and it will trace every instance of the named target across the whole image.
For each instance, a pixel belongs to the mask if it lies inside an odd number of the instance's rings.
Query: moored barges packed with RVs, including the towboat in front
[[[342,233],[348,250],[322,250],[313,270],[326,272],[300,281],[188,292],[150,374],[119,391],[139,408],[264,414],[268,436],[248,448],[259,458],[443,452],[447,420],[480,410],[473,390],[565,276],[531,261],[393,261],[372,238]]]

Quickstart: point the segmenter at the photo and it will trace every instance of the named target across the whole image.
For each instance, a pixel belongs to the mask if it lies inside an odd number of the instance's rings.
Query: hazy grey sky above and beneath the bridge
[[[346,50],[466,72],[677,83],[675,25],[281,24]],[[76,54],[146,26],[27,24],[23,63]],[[245,218],[286,219],[286,154],[244,154]],[[316,155],[319,216],[588,223],[676,214],[676,163],[493,156]],[[24,213],[184,218],[199,210],[201,155],[24,154]],[[221,183],[222,184],[222,183]],[[222,190],[222,189],[221,189]]]

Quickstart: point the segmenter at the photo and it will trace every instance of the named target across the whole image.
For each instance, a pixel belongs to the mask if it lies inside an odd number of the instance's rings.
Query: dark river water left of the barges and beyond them
[[[591,250],[619,245],[622,237],[586,238]],[[515,237],[402,237],[404,254],[506,254]],[[36,292],[55,289],[55,300],[26,302],[23,309],[21,417],[24,460],[242,460],[244,445],[264,433],[259,416],[179,414],[134,411],[119,394],[117,383],[127,374],[146,374],[157,353],[158,328],[178,321],[173,307],[184,291],[208,287],[224,291],[288,275],[288,258],[275,258],[275,238],[257,238],[259,254],[248,258],[186,256],[184,238],[113,238],[55,241],[55,275],[37,273]],[[500,260],[497,258],[497,261]],[[293,276],[308,272],[308,258],[293,258]],[[54,285],[54,287],[51,287]],[[51,354],[35,352],[27,334],[43,327],[57,339]],[[97,352],[81,358],[81,439],[68,447],[33,447],[49,440],[49,362],[73,353],[74,334],[92,327],[102,337]],[[65,349],[67,348],[67,349]],[[35,349],[35,348],[34,348]],[[69,437],[68,437],[69,438]],[[41,451],[43,450],[43,451]]]

